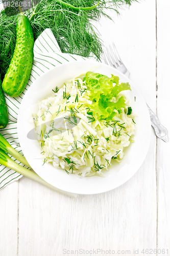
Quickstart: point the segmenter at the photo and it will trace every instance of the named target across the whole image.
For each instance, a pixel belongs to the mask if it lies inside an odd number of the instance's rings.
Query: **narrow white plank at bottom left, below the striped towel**
[[[17,255],[18,245],[18,181],[0,193],[0,255]]]

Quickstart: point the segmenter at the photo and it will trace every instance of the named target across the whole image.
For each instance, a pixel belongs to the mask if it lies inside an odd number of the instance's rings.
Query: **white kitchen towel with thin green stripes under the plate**
[[[26,94],[32,83],[46,71],[53,69],[62,63],[82,59],[85,58],[78,55],[61,53],[51,29],[45,29],[35,41],[34,62],[29,81],[23,93],[18,97],[12,98],[5,95],[9,110],[9,124],[5,129],[0,130],[1,134],[18,152],[20,152],[20,154],[22,154],[22,151],[19,146],[17,136],[17,115],[23,96]],[[0,189],[13,181],[20,179],[21,177],[21,174],[16,173],[14,170],[9,169],[8,167],[0,165]]]

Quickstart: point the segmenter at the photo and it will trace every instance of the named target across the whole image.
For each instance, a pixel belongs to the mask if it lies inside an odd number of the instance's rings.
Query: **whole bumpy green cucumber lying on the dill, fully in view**
[[[16,46],[9,69],[3,80],[3,90],[11,97],[20,95],[26,87],[33,65],[33,30],[28,17],[19,14],[16,24]]]

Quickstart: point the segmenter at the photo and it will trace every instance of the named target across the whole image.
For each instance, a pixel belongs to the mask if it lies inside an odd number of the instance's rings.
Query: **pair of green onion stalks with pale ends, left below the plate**
[[[77,198],[76,194],[72,194],[72,193],[68,193],[66,191],[60,190],[54,186],[52,186],[51,184],[47,183],[46,181],[44,181],[43,179],[41,179],[36,173],[32,172],[32,170],[27,169],[23,166],[21,166],[20,164],[17,164],[14,160],[12,160],[7,154],[9,153],[10,155],[12,155],[13,157],[15,157],[18,161],[20,161],[21,163],[31,167],[29,165],[29,163],[27,162],[26,158],[23,157],[21,154],[19,154],[9,143],[8,141],[0,134],[0,164],[7,166],[8,168],[15,170],[15,172],[26,176],[29,179],[32,179],[38,183],[40,183],[41,185],[44,185],[48,188],[51,188],[55,191],[57,191],[58,193],[61,193],[65,196],[69,196],[72,198]]]

